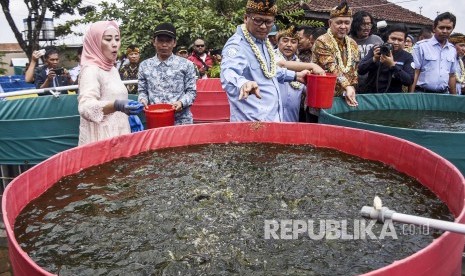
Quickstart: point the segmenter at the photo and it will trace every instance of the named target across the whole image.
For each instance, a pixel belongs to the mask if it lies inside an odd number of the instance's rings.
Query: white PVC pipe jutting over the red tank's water
[[[363,217],[376,219],[379,222],[384,222],[386,219],[390,219],[392,221],[415,224],[420,226],[426,225],[434,229],[465,234],[465,224],[396,213],[395,211],[390,210],[387,207],[383,207],[377,210],[371,206],[363,206],[360,213]]]

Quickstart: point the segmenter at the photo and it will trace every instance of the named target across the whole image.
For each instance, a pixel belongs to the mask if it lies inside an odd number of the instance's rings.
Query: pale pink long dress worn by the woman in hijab
[[[79,77],[79,145],[131,133],[128,115],[119,111],[103,114],[105,105],[127,98],[128,91],[116,68],[105,71],[95,65],[85,66]]]

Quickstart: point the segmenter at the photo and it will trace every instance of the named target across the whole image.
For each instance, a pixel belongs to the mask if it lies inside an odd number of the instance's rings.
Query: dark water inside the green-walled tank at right
[[[430,131],[465,131],[465,113],[434,110],[360,110],[334,114],[351,121]]]

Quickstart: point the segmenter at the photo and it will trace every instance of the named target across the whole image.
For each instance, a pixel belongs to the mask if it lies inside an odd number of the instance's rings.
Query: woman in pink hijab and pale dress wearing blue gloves
[[[93,23],[84,37],[79,75],[79,145],[131,133],[128,115],[143,105],[128,91],[113,66],[121,46],[115,21]]]

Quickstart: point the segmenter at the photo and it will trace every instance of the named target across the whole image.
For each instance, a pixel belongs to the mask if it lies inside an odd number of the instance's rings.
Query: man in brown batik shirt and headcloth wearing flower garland
[[[342,2],[330,12],[328,32],[320,36],[313,48],[312,60],[326,72],[337,76],[335,96],[344,96],[349,106],[357,106],[357,43],[348,36],[352,9]]]

